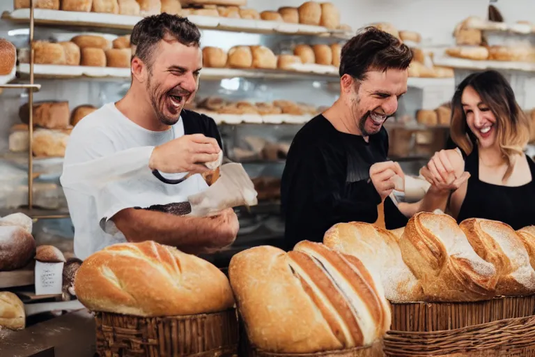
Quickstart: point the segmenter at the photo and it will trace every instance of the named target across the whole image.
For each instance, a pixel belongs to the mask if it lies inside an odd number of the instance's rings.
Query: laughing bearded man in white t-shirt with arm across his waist
[[[200,37],[187,19],[145,17],[132,31],[129,91],[72,130],[61,184],[79,258],[113,243],[147,239],[203,252],[228,245],[238,233],[232,209],[189,218],[134,208],[161,204],[151,199],[162,192],[183,202],[208,188],[199,174],[208,170],[203,163],[218,159],[221,137],[213,119],[183,110],[199,86]],[[169,184],[187,173],[194,175]]]

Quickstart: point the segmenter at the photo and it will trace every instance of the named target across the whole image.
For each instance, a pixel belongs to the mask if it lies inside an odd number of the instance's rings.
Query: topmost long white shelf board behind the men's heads
[[[30,10],[27,8],[4,12],[4,20],[27,24],[30,22]],[[85,29],[93,31],[114,31],[130,33],[143,17],[130,15],[116,15],[108,13],[81,13],[62,10],[33,10],[34,23],[40,26],[54,26],[63,28]],[[215,31],[232,31],[245,33],[265,33],[274,35],[305,35],[348,39],[352,33],[340,30],[329,30],[323,26],[304,24],[288,24],[264,20],[244,20],[228,17],[210,17],[189,15],[188,20],[199,26],[199,29]]]

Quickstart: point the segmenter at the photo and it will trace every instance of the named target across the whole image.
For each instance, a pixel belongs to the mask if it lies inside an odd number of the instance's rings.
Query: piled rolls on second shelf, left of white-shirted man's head
[[[130,68],[132,57],[130,36],[118,37],[113,43],[95,35],[79,35],[60,43],[34,41],[33,50],[34,63],[60,66]],[[22,56],[21,61],[29,59]]]

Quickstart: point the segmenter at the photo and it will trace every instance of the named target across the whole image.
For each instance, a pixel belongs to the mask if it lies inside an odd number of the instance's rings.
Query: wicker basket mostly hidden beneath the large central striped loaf
[[[382,342],[378,341],[369,347],[357,347],[352,349],[341,349],[337,351],[316,352],[314,354],[280,354],[276,352],[263,351],[254,347],[249,342],[245,326],[240,319],[240,357],[383,357]]]

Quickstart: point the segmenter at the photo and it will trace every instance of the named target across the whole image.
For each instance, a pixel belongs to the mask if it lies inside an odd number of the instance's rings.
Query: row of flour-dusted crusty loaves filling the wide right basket
[[[327,231],[325,245],[373,264],[390,301],[482,301],[535,293],[534,232],[479,218],[457,225],[444,213],[420,212],[391,234],[341,223]]]

